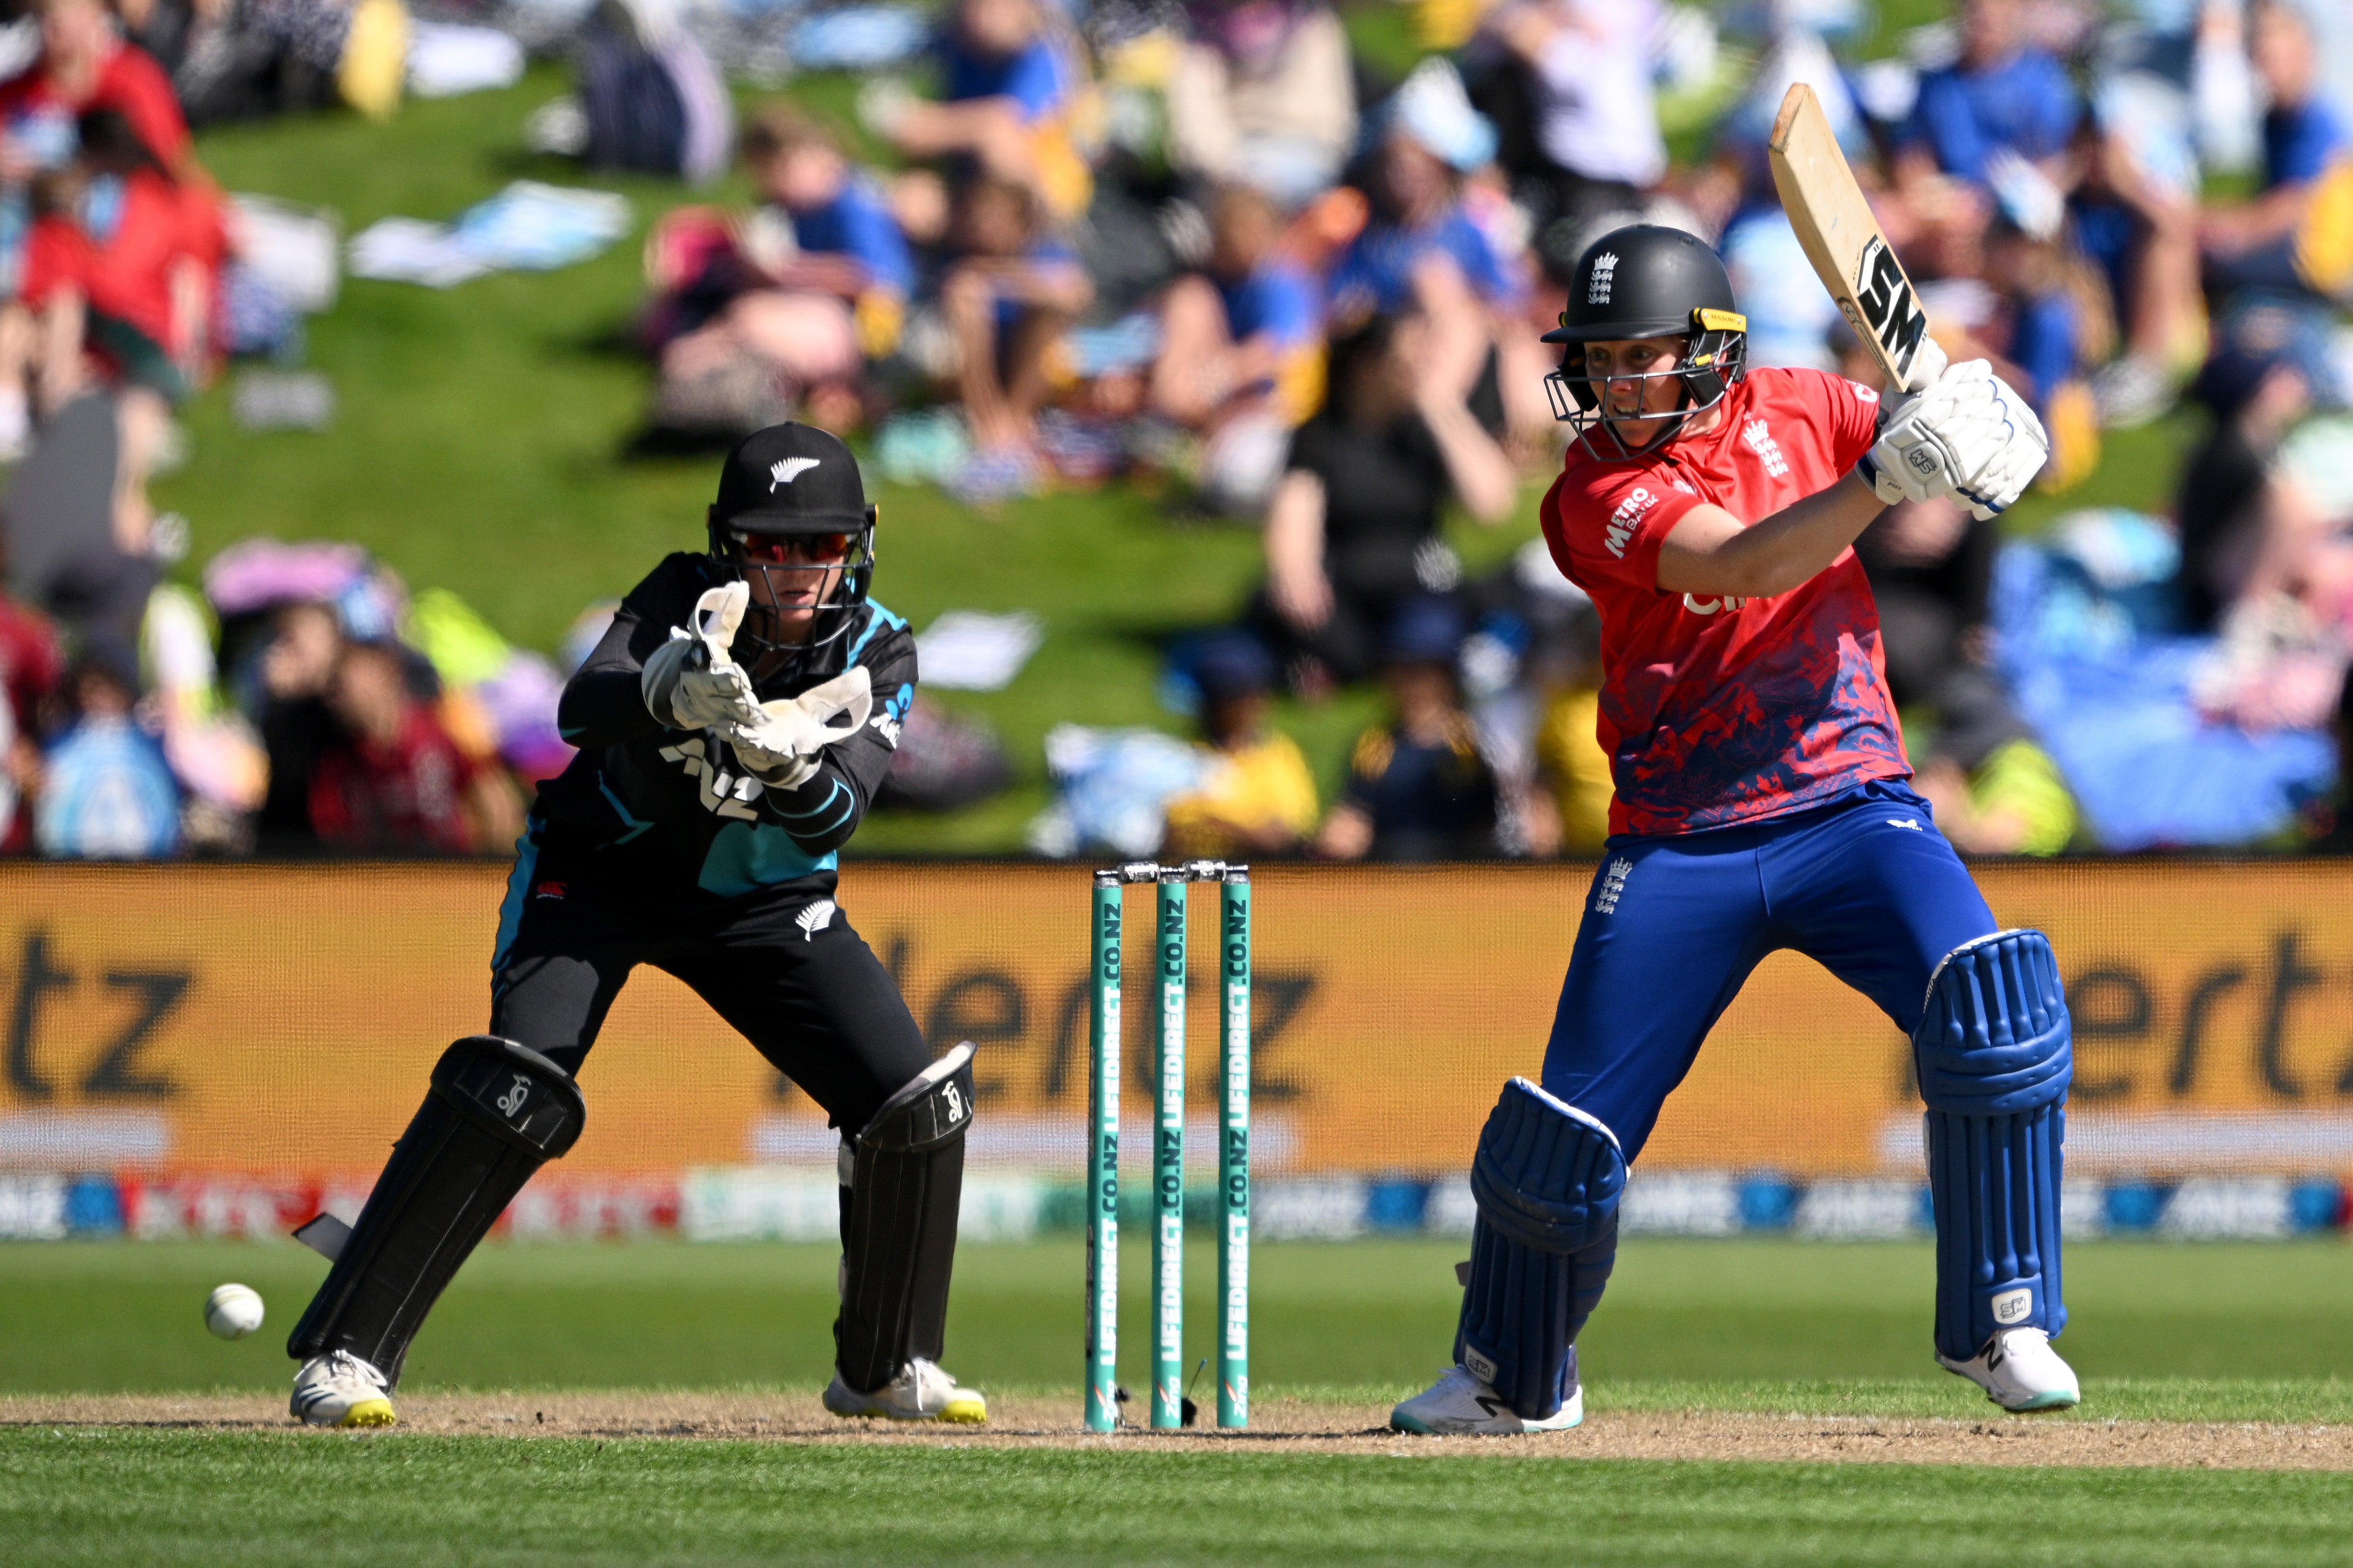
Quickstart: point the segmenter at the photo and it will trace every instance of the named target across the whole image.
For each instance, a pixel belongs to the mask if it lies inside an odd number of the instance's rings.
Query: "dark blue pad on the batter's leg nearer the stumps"
[[[1577,1331],[1617,1260],[1624,1190],[1607,1126],[1527,1079],[1504,1086],[1471,1161],[1478,1222],[1454,1359],[1527,1420],[1567,1399]]]

